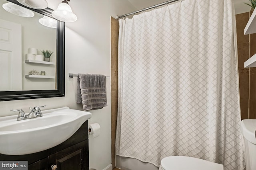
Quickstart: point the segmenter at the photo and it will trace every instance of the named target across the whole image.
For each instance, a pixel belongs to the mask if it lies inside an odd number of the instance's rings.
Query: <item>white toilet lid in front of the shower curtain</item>
[[[161,167],[163,170],[223,170],[222,164],[188,156],[165,157]]]

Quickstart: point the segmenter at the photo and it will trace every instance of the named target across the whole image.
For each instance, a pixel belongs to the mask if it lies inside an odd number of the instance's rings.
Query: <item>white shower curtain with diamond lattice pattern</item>
[[[232,0],[185,0],[119,24],[116,154],[244,169]]]

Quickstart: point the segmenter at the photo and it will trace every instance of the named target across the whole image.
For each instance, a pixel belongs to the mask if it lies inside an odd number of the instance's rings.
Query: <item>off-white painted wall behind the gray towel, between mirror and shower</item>
[[[61,2],[47,1],[52,9],[56,9]],[[44,109],[69,106],[82,110],[82,106],[75,101],[76,78],[69,79],[68,73],[110,76],[110,16],[132,12],[134,7],[126,0],[71,0],[69,4],[78,20],[66,23],[66,96],[0,102],[0,116],[17,114],[10,112],[10,109],[24,109],[27,113],[28,106],[47,105]],[[111,164],[110,79],[107,79],[107,100],[108,106],[91,111],[92,118],[89,119],[89,124],[98,122],[101,126],[99,137],[89,137],[90,168],[98,170]]]

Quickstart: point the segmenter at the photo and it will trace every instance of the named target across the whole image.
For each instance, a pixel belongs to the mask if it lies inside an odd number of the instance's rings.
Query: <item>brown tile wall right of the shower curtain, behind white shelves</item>
[[[244,68],[244,62],[256,53],[256,34],[244,35],[250,13],[252,11],[236,15],[242,119],[256,119],[256,68]]]

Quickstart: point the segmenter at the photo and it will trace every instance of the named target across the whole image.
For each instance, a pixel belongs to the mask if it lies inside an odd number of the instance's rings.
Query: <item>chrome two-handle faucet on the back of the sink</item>
[[[40,106],[40,107],[36,106],[33,109],[32,107],[29,107],[30,112],[28,113],[28,115],[26,115],[22,109],[16,109],[16,110],[11,109],[11,111],[19,111],[17,120],[25,120],[25,119],[31,119],[31,118],[43,116],[42,111],[40,109],[41,107],[46,107],[46,105]]]

